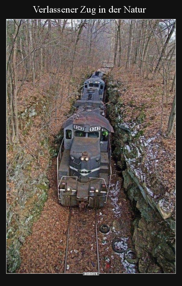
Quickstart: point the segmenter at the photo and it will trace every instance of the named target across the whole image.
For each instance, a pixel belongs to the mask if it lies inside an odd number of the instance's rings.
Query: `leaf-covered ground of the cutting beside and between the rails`
[[[53,159],[48,175],[48,200],[41,217],[33,226],[32,234],[21,248],[22,264],[16,273],[63,273],[64,270],[69,208],[60,206],[57,201],[56,159]],[[132,211],[121,186],[122,178],[118,176],[113,163],[109,198],[106,206],[97,211],[98,227],[101,223],[110,226],[108,234],[98,230],[101,273],[136,272],[135,265],[124,261],[123,253],[115,253],[111,244],[113,238],[120,237],[125,242],[125,248],[132,248]],[[93,210],[80,213],[79,209],[72,209],[67,264],[68,273],[97,271]]]

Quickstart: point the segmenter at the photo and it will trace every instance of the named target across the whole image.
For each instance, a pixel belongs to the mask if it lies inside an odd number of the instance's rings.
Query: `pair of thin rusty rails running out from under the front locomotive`
[[[68,219],[68,229],[67,229],[67,238],[66,238],[66,250],[65,250],[65,266],[64,266],[64,273],[67,271],[67,257],[68,257],[68,249],[69,249],[69,231],[71,225],[71,211],[72,207],[69,209],[69,219]],[[99,245],[98,245],[98,233],[97,233],[97,209],[95,211],[95,237],[96,237],[96,255],[97,255],[97,271],[100,272],[100,265],[99,265]]]

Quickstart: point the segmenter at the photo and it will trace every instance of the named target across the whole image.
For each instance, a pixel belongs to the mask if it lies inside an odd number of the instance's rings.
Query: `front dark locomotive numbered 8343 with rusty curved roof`
[[[80,201],[88,203],[94,190],[98,191],[97,195],[107,195],[109,137],[113,132],[109,121],[100,114],[85,112],[79,118],[76,115],[69,118],[63,127],[64,152],[58,170],[59,194],[70,194],[70,190],[74,190],[76,198],[72,205]],[[70,198],[73,200],[73,197]],[[64,199],[60,196],[63,205]],[[105,198],[100,199],[100,206],[104,201]],[[88,205],[93,207],[91,201]]]

